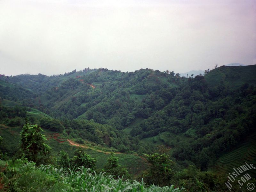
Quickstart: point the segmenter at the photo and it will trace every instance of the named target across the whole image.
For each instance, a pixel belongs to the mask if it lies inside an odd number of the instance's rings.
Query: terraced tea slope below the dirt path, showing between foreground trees
[[[8,127],[0,125],[0,135],[3,137],[4,152],[8,152],[9,155],[14,155],[20,145],[20,127]],[[72,158],[76,150],[76,146],[72,146],[61,133],[52,132],[44,129],[46,135],[46,143],[52,148],[52,154],[58,156],[60,150],[64,150]],[[96,169],[103,169],[106,164],[110,152],[99,152],[97,149],[92,147],[85,148],[87,154],[91,155],[96,159]],[[128,168],[128,172],[132,175],[137,175],[140,172],[146,170],[147,164],[145,160],[137,155],[117,153],[119,157],[119,163]]]

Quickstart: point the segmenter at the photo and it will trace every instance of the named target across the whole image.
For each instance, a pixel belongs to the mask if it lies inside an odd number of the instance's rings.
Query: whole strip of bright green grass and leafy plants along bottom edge
[[[17,161],[17,160],[16,160]],[[123,181],[112,176],[82,167],[74,169],[56,168],[51,165],[36,167],[34,163],[7,161],[1,173],[4,191],[49,191],[49,192],[180,192],[181,188],[147,186],[138,181]],[[1,191],[1,189],[0,189]]]

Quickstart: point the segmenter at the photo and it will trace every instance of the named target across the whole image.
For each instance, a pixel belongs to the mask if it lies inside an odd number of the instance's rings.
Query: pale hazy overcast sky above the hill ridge
[[[256,0],[0,0],[0,74],[256,64]]]

